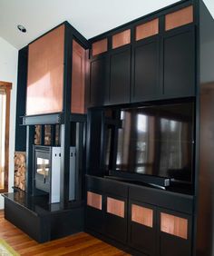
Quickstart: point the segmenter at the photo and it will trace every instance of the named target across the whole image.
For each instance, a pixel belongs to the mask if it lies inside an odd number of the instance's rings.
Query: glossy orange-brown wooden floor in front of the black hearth
[[[29,238],[4,218],[0,211],[0,238],[4,239],[20,255],[129,255],[87,233],[39,244]]]

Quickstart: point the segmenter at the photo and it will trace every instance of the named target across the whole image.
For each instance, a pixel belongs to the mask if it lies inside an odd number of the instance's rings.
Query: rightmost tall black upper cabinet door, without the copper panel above
[[[163,38],[163,94],[165,97],[195,94],[195,34],[192,27],[171,31]]]

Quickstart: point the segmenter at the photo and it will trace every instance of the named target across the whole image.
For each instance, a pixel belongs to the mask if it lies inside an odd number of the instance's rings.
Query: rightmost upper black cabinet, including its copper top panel
[[[166,97],[195,94],[195,28],[193,7],[165,15],[163,35],[163,94]],[[186,25],[186,26],[185,26]]]

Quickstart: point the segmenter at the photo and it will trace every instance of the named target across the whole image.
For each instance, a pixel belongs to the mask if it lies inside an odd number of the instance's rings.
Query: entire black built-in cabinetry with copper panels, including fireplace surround
[[[48,241],[83,230],[85,200],[85,229],[131,254],[212,256],[213,31],[213,18],[203,2],[187,0],[89,41],[65,22],[20,50],[15,149],[26,151],[26,193],[5,196],[5,218],[37,241]],[[108,143],[104,130],[116,144],[112,127],[122,126],[119,118],[103,116],[102,107],[142,107],[187,98],[195,103],[191,195],[102,178],[109,173],[102,152]],[[86,130],[87,101],[93,108]],[[20,115],[25,126],[19,126]],[[53,130],[60,125],[57,206],[32,197],[34,125],[39,124],[51,124]],[[69,201],[71,145],[76,147],[80,181],[76,202]],[[84,193],[85,159],[88,174],[97,177],[87,177]],[[37,223],[35,232],[31,221]]]

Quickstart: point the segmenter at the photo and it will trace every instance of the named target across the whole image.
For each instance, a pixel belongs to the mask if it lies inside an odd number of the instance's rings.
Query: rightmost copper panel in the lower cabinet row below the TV
[[[161,212],[160,231],[188,239],[188,220]]]

